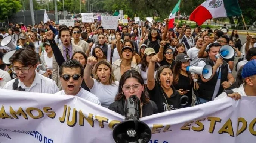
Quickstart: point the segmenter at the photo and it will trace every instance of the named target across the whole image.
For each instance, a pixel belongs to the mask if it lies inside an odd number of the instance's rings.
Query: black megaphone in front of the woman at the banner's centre
[[[113,130],[113,138],[116,143],[148,143],[150,141],[150,128],[139,120],[140,108],[140,101],[136,95],[130,96],[125,101],[125,120],[118,123]]]

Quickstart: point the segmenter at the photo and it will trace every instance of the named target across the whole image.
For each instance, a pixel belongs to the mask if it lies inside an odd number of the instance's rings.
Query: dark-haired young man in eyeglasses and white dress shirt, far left
[[[12,71],[18,78],[7,82],[3,89],[37,93],[56,93],[59,91],[52,79],[37,73],[38,58],[31,49],[19,49],[9,59]]]

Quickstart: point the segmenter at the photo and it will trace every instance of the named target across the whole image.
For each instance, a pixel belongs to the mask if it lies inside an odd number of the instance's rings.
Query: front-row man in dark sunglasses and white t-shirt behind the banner
[[[63,90],[56,94],[78,96],[92,103],[101,105],[98,97],[81,88],[81,84],[84,80],[84,68],[79,61],[70,59],[63,62],[59,70],[59,75]]]

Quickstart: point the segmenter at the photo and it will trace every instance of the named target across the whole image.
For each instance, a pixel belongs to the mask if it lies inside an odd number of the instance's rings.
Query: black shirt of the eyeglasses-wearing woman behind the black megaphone
[[[118,101],[111,103],[108,109],[115,111],[118,114],[124,115],[124,103],[125,103],[124,98],[120,99]],[[152,114],[157,114],[157,113],[158,113],[158,109],[154,101],[150,100],[148,104],[142,106],[142,117],[149,116]]]

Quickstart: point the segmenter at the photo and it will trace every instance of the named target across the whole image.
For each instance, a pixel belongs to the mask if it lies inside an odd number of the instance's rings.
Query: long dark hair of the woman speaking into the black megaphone
[[[119,82],[118,94],[115,96],[115,101],[125,99],[122,87],[124,85],[124,82],[128,78],[136,78],[141,85],[144,85],[144,80],[141,77],[141,74],[139,74],[139,72],[137,72],[135,70],[132,70],[132,69],[124,72],[124,74],[122,75],[122,77],[120,79],[120,82]],[[148,96],[148,92],[146,91],[146,86],[145,85],[144,85],[144,90],[141,93],[141,99],[140,100],[145,105],[149,103],[149,96]]]

